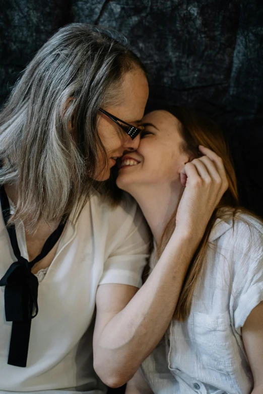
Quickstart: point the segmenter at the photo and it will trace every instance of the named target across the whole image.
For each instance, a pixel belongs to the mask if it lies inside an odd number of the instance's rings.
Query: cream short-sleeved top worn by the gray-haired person
[[[18,244],[28,259],[23,228]],[[105,392],[93,369],[92,336],[99,284],[141,286],[148,229],[130,197],[111,207],[93,196],[77,223],[68,220],[56,255],[38,287],[39,312],[32,320],[27,366],[7,363],[12,322],[6,322],[0,287],[0,393]],[[0,278],[16,261],[0,213]],[[48,393],[46,390],[49,390]]]

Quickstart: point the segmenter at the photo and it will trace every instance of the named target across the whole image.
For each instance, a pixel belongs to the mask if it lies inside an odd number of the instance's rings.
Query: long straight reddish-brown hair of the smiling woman
[[[181,293],[174,312],[174,319],[184,321],[190,313],[191,301],[196,283],[198,283],[198,280],[204,274],[204,262],[206,250],[209,245],[209,235],[216,219],[232,218],[234,224],[234,217],[238,211],[248,211],[239,206],[235,171],[231,161],[228,145],[219,126],[213,121],[201,116],[193,109],[173,106],[165,108],[165,110],[174,115],[180,122],[179,132],[181,133],[181,136],[185,142],[183,146],[184,150],[189,151],[195,157],[198,157],[198,146],[203,145],[209,149],[212,149],[215,153],[222,157],[229,184],[227,191],[221,198],[220,203],[209,220],[203,239],[193,256],[184,279]],[[249,212],[249,214],[251,213]],[[167,223],[161,240],[157,245],[157,260],[160,258],[175,228],[175,218],[176,211],[173,213],[169,222]]]

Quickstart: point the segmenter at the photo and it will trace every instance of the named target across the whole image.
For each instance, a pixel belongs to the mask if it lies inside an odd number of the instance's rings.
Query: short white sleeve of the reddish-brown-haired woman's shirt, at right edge
[[[257,223],[258,224],[258,223]],[[238,333],[252,309],[263,301],[263,231],[242,225],[234,248],[235,272],[232,288],[234,326]],[[260,227],[260,226],[259,226]]]

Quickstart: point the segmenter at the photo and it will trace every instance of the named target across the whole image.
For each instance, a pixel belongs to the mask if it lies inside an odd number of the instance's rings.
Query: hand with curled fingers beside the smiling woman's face
[[[228,189],[221,157],[200,145],[204,156],[185,165],[180,174],[185,186],[176,214],[175,232],[203,237],[208,221]]]

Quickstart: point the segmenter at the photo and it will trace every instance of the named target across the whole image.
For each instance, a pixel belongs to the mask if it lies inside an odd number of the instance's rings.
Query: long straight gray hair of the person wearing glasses
[[[87,24],[58,30],[36,53],[0,113],[0,184],[15,184],[10,222],[67,218],[98,189],[93,179],[99,107],[116,100],[125,72],[144,66],[112,33]],[[77,143],[70,125],[77,130]],[[77,204],[77,205],[76,205]]]

